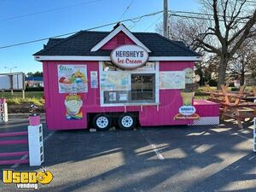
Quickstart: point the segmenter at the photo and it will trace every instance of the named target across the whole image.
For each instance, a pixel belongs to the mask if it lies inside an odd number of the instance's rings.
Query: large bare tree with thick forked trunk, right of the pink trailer
[[[196,43],[220,58],[218,86],[224,84],[230,59],[245,39],[255,35],[256,9],[247,6],[247,0],[201,0],[207,15],[213,21],[206,32],[196,38]],[[254,27],[253,27],[254,26]]]

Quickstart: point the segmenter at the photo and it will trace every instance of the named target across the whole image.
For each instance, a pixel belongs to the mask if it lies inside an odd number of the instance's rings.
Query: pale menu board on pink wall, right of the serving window
[[[160,90],[185,89],[185,72],[160,72]]]

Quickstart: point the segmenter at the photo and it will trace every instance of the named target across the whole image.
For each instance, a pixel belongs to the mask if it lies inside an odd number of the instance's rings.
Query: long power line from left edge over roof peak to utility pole
[[[102,27],[105,27],[105,26],[112,26],[112,25],[117,24],[119,22],[126,22],[126,21],[134,22],[133,20],[141,20],[144,17],[159,15],[162,12],[163,11],[157,11],[157,12],[154,12],[154,13],[151,13],[151,14],[142,15],[142,16],[138,16],[138,17],[135,17],[135,18],[131,18],[131,19],[119,20],[119,21],[115,21],[115,22],[112,22],[112,23],[102,25],[102,26],[95,26],[95,27],[91,27],[91,28],[88,28],[88,29],[84,29],[84,31],[95,30],[95,29],[102,28]],[[77,32],[79,32],[79,31],[77,31]],[[53,37],[49,37],[49,38],[61,38],[63,36],[72,35],[74,33],[76,33],[76,32],[68,32],[68,33],[65,33],[65,34],[61,34],[61,35],[57,35],[57,36],[53,36]],[[47,40],[49,38],[39,38],[39,39],[36,39],[36,40],[22,42],[22,43],[19,43],[19,44],[9,44],[9,45],[5,45],[5,46],[0,47],[0,49],[6,49],[6,48],[10,48],[10,47],[20,46],[20,45],[23,45],[23,44],[32,44],[32,43],[36,43],[36,42],[39,42],[39,41]]]

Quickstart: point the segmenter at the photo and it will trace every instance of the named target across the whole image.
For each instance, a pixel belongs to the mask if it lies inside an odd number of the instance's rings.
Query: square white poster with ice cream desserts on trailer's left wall
[[[58,65],[59,93],[88,92],[85,65]]]

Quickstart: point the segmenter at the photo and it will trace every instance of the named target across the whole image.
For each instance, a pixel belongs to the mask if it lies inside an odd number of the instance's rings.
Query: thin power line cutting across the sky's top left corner
[[[18,19],[18,18],[22,18],[22,17],[27,17],[27,16],[32,16],[32,15],[40,15],[40,14],[45,14],[45,13],[49,13],[49,12],[58,11],[58,10],[61,10],[61,9],[68,9],[68,8],[78,7],[78,6],[82,6],[82,5],[85,5],[85,4],[96,3],[96,2],[100,2],[100,1],[102,1],[102,0],[91,0],[91,1],[84,2],[84,3],[77,3],[77,4],[65,6],[65,7],[55,8],[55,9],[47,9],[47,10],[43,10],[43,11],[31,13],[31,14],[16,15],[16,16],[0,19],[0,21],[3,21],[3,20],[14,20],[14,19]]]

